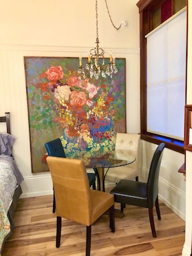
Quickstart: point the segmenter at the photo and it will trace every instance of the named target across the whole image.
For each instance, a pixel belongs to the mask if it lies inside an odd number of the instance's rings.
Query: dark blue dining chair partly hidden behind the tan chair
[[[47,149],[48,156],[58,156],[65,158],[65,151],[63,149],[63,145],[61,144],[61,140],[56,138],[55,140],[51,140],[50,142],[45,143],[45,148]],[[96,175],[94,173],[87,173],[89,179],[89,185],[92,186],[92,189],[96,189]],[[53,195],[53,206],[52,212],[56,212],[56,201],[55,195]]]

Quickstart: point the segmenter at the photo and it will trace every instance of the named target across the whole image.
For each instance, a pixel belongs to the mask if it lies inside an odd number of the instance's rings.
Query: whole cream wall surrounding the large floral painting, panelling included
[[[140,131],[140,49],[136,0],[108,1],[116,27],[112,27],[105,1],[98,0],[100,46],[115,57],[126,58],[127,131]],[[3,1],[0,16],[0,114],[11,112],[16,136],[14,156],[25,182],[22,197],[52,193],[49,173],[33,175],[30,164],[27,93],[23,56],[87,56],[95,47],[94,0]],[[134,111],[133,111],[134,109]]]

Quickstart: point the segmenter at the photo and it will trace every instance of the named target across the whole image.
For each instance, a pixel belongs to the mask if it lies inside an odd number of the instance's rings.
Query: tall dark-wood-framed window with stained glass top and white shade
[[[182,8],[186,0],[139,1],[137,5],[141,138],[156,144],[163,141],[167,148],[184,153],[186,11]]]

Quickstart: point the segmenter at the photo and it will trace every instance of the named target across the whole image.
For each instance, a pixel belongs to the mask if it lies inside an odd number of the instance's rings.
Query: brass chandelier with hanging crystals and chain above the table
[[[103,78],[116,74],[118,69],[115,65],[115,58],[112,58],[112,54],[109,57],[109,63],[105,63],[104,50],[99,47],[98,38],[98,1],[96,0],[96,47],[92,48],[88,55],[88,62],[85,65],[85,69],[89,71],[91,78],[98,80],[100,74]],[[100,60],[101,58],[101,60]],[[82,67],[82,59],[80,58],[80,67],[78,67],[78,73],[83,74],[85,78],[85,70]]]

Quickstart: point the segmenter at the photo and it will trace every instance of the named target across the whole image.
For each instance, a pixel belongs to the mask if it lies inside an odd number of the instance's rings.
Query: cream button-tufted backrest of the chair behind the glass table
[[[129,167],[138,170],[139,163],[139,144],[140,144],[140,134],[133,133],[117,133],[116,134],[116,144],[115,149],[127,149],[130,150],[133,155],[136,157],[136,160],[133,164],[130,164]]]

